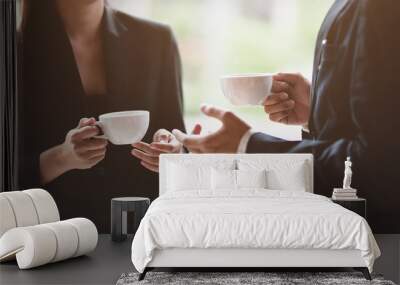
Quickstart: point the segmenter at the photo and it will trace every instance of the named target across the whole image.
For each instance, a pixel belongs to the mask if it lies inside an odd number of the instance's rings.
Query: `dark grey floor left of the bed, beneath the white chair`
[[[0,264],[0,284],[115,284],[122,273],[134,271],[130,259],[132,237],[121,243],[100,235],[97,249],[81,256],[29,270],[16,262]]]

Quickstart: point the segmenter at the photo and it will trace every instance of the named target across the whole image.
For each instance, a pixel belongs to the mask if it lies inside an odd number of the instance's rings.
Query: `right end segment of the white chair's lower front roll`
[[[76,250],[74,257],[91,252],[96,248],[98,233],[97,228],[92,221],[85,218],[75,218],[65,220],[64,222],[73,225],[78,232],[78,249]]]

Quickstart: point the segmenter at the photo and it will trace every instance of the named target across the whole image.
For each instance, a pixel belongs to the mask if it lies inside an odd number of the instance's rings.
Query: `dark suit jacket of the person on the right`
[[[315,192],[330,196],[353,161],[375,232],[399,233],[400,2],[337,0],[317,39],[311,134],[287,142],[253,135],[248,152],[313,153]]]

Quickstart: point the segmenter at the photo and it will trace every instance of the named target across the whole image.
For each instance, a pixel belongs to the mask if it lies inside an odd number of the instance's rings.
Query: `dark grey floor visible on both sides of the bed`
[[[382,257],[375,272],[400,281],[400,235],[377,235]],[[97,249],[88,256],[30,270],[18,270],[16,262],[0,264],[0,284],[115,284],[122,273],[134,271],[130,259],[132,236],[121,243],[100,235]]]

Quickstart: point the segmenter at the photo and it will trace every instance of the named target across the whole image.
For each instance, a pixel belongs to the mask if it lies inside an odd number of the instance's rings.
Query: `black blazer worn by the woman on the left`
[[[40,153],[61,144],[82,117],[149,110],[147,142],[160,128],[184,129],[180,59],[167,26],[107,8],[102,33],[108,92],[87,96],[52,1],[39,5],[23,36],[21,189],[42,186]],[[158,175],[144,169],[130,151],[130,146],[109,145],[105,160],[92,169],[73,170],[44,185],[55,197],[61,217],[87,217],[100,232],[109,232],[112,197],[156,198]]]

